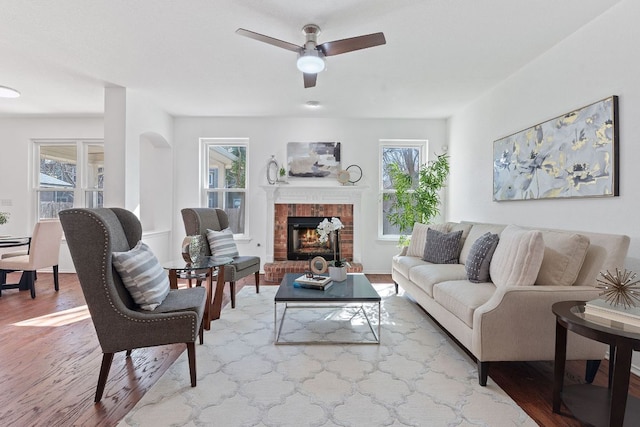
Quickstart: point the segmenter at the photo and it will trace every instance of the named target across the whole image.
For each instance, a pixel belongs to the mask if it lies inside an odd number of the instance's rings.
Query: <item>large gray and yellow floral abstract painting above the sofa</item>
[[[618,97],[493,143],[493,200],[618,196]]]

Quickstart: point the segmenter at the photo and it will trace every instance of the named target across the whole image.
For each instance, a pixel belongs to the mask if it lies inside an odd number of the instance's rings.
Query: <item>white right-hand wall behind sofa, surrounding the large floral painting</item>
[[[638,16],[640,2],[622,1],[449,120],[449,220],[627,234],[627,268],[640,272]],[[492,201],[494,140],[610,95],[619,96],[620,197]]]

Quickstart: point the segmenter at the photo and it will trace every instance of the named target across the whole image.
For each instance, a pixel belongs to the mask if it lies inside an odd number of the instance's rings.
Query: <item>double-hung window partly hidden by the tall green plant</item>
[[[397,226],[389,222],[390,206],[395,202],[393,181],[389,176],[389,166],[396,164],[418,182],[420,165],[425,163],[426,140],[381,140],[380,141],[380,201],[378,235],[381,239],[397,240],[401,235]]]

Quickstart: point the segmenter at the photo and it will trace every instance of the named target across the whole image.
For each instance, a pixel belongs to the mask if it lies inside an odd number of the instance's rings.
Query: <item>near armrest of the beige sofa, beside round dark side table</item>
[[[559,301],[588,301],[600,292],[592,286],[498,287],[474,312],[472,352],[481,361],[553,360],[556,316],[551,306]],[[568,358],[604,356],[605,346],[577,341],[567,346]]]

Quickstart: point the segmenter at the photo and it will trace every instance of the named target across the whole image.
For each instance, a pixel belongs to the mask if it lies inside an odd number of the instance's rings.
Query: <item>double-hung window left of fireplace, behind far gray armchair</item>
[[[246,230],[247,139],[202,138],[201,205],[223,209],[236,235]]]

